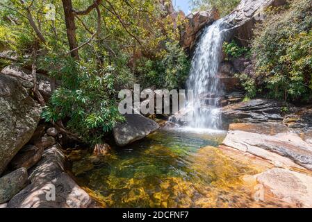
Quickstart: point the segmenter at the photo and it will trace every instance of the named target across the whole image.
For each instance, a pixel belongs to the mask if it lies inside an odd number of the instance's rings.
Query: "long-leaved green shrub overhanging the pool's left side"
[[[115,95],[125,80],[112,65],[96,69],[90,62],[83,64],[71,58],[58,62],[64,65],[60,70],[63,85],[52,94],[42,117],[46,121],[69,119],[67,128],[85,142],[101,142],[103,134],[124,119],[117,110]]]

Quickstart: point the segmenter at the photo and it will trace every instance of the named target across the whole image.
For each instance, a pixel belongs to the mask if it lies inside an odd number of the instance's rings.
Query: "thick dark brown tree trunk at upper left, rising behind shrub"
[[[79,53],[76,40],[76,25],[75,25],[75,15],[72,8],[72,0],[62,0],[63,8],[64,8],[64,15],[65,15],[65,24],[66,24],[66,31],[67,31],[67,39],[69,42],[69,49],[72,51],[71,56],[79,59]],[[74,50],[76,49],[76,50]]]

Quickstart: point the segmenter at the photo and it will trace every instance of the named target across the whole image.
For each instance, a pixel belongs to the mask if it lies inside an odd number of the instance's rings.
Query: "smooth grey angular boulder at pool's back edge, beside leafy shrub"
[[[126,121],[117,123],[113,134],[117,146],[126,146],[153,133],[159,128],[158,123],[141,114],[124,114]]]

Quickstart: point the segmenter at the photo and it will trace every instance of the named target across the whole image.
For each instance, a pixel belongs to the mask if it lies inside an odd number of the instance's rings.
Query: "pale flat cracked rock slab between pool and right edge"
[[[271,162],[281,162],[286,167],[298,168],[295,165],[299,165],[312,170],[312,146],[294,133],[269,136],[238,130],[229,131],[222,144]]]

